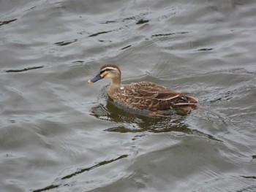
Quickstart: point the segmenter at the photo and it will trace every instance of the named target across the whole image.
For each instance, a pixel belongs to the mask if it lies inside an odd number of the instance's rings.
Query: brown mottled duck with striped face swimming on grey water
[[[194,109],[198,100],[188,96],[187,92],[173,91],[154,82],[142,81],[121,84],[121,70],[116,64],[105,64],[99,73],[88,80],[94,83],[98,80],[110,78],[108,96],[117,104],[132,110],[148,110],[151,112],[170,110],[179,107]]]

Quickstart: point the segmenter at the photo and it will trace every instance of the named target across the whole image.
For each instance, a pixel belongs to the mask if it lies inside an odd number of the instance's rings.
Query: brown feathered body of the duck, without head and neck
[[[115,100],[129,102],[132,107],[148,110],[166,110],[170,107],[187,106],[197,103],[197,99],[187,96],[187,92],[173,91],[153,82],[137,82],[122,85]],[[113,94],[113,98],[115,95]]]

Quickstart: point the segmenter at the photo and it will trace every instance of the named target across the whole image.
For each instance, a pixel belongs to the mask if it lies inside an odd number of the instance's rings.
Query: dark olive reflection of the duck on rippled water
[[[184,134],[193,134],[200,137],[214,138],[210,134],[204,134],[196,129],[189,128],[186,123],[187,113],[177,110],[166,110],[165,113],[151,115],[148,111],[129,110],[108,98],[105,91],[107,87],[100,91],[99,105],[91,108],[91,115],[101,120],[109,120],[118,123],[118,126],[105,129],[105,131],[118,133],[139,133],[139,132],[182,132]]]

